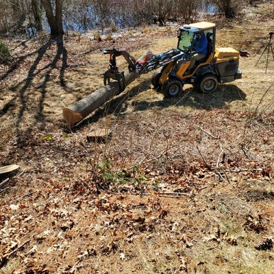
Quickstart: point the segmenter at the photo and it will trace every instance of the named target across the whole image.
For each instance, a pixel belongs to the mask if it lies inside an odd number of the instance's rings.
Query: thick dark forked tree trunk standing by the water
[[[60,36],[64,34],[62,26],[62,0],[55,0],[55,16],[53,15],[53,8],[51,0],[41,0],[45,9],[47,21],[51,28],[51,36]]]

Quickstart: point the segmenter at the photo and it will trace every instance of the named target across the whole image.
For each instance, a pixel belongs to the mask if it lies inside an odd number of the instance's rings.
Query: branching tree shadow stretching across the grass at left
[[[42,63],[42,60],[44,57],[49,58],[50,55],[47,55],[47,51],[51,48],[51,46],[55,44],[56,45],[56,53],[50,62],[47,62],[45,66],[42,66],[41,69],[39,69],[40,64]],[[62,37],[55,38],[54,40],[48,40],[43,44],[39,49],[36,51],[33,51],[32,53],[28,53],[27,55],[23,55],[18,60],[14,62],[14,64],[10,67],[10,69],[0,77],[0,79],[5,79],[6,77],[10,76],[10,74],[19,66],[22,64],[26,58],[30,57],[31,55],[36,55],[36,58],[32,65],[29,68],[29,71],[27,72],[27,76],[23,81],[17,83],[16,85],[12,86],[11,90],[14,91],[14,96],[8,103],[5,103],[3,105],[3,108],[0,110],[0,118],[1,116],[4,116],[8,113],[8,111],[16,105],[16,101],[18,100],[18,113],[16,114],[16,136],[18,138],[18,141],[21,142],[21,139],[25,134],[21,132],[21,123],[23,123],[23,115],[25,112],[27,112],[30,108],[36,108],[36,114],[34,114],[34,121],[32,123],[32,126],[25,129],[25,132],[28,132],[30,128],[34,127],[36,123],[43,122],[45,120],[45,116],[43,113],[44,109],[44,102],[45,97],[47,93],[47,85],[49,82],[49,79],[52,75],[53,69],[58,69],[58,61],[61,61],[61,66],[59,69],[59,81],[60,86],[65,87],[66,84],[64,82],[64,72],[67,67],[67,58],[68,53],[66,51],[66,48],[64,47],[64,42]],[[35,97],[37,95],[35,94],[34,97],[28,96],[27,90],[30,86],[32,86],[34,82],[34,78],[39,75],[40,73],[44,73],[42,75],[42,83],[38,86],[38,89],[40,90],[40,95],[38,94],[38,104],[33,105],[35,101]]]

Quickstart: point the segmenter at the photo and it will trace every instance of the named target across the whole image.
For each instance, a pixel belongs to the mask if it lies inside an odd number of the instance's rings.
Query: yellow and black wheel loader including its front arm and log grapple
[[[189,69],[195,53],[194,44],[197,34],[206,36],[208,53],[205,58],[196,61],[192,69]],[[160,68],[154,73],[151,83],[165,97],[179,95],[184,84],[192,84],[203,93],[213,92],[219,84],[233,82],[242,77],[242,72],[238,69],[239,52],[231,47],[215,48],[215,44],[216,25],[201,22],[179,28],[176,49],[171,49],[160,55],[148,52],[142,60],[137,62],[126,51],[103,49],[101,51],[104,54],[110,54],[110,66],[104,74],[104,83],[110,83],[111,79],[114,79],[119,82],[121,90],[125,89],[124,72],[119,72],[119,68],[116,66],[116,57],[123,55],[129,64],[129,72],[136,69],[141,75]]]

